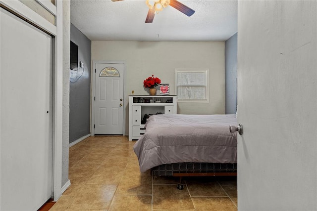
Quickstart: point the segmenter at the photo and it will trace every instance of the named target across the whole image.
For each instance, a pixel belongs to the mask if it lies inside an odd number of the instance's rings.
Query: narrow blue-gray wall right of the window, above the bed
[[[225,42],[225,113],[235,114],[237,108],[237,51],[238,36]]]

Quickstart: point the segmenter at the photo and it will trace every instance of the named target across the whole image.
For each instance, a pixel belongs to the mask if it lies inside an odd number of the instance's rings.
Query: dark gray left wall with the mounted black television
[[[69,69],[69,143],[90,133],[91,81],[91,41],[73,24],[70,40],[78,45],[78,71]]]

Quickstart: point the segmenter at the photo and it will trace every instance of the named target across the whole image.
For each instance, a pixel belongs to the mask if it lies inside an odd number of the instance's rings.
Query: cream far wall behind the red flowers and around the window
[[[175,68],[209,68],[210,103],[178,103],[177,113],[224,114],[224,42],[93,41],[92,60],[125,61],[127,95],[132,90],[135,95],[148,95],[143,81],[152,74],[162,84],[170,84],[170,94],[175,94]],[[128,96],[125,101],[128,102]]]

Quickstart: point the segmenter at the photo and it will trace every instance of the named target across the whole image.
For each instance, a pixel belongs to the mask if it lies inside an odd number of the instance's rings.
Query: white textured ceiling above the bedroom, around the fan
[[[70,0],[70,20],[91,41],[225,41],[237,32],[237,0],[179,0],[145,23],[145,0]]]

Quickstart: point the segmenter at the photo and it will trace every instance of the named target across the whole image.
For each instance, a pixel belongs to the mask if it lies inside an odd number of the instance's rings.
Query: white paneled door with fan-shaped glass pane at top
[[[123,134],[123,63],[96,63],[95,134]]]

